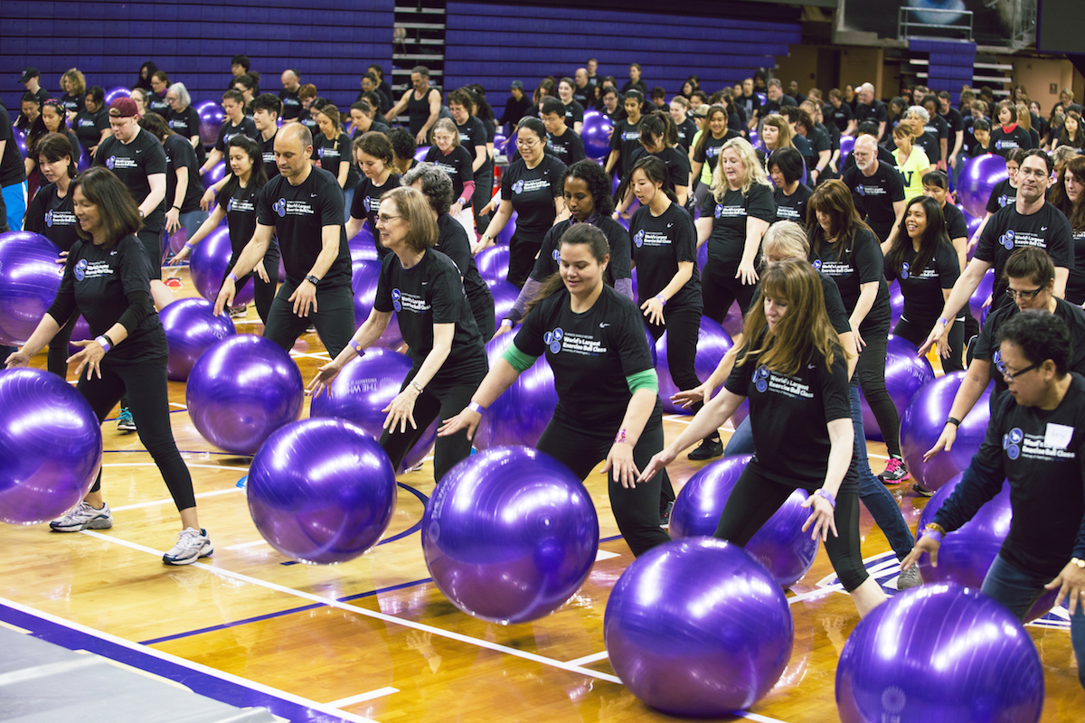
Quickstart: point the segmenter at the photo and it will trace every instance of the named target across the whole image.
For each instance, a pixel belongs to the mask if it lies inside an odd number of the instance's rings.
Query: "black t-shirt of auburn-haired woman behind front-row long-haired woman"
[[[878,295],[870,311],[859,325],[859,332],[875,332],[882,326],[888,327],[890,321],[889,286],[885,284],[885,260],[878,244],[878,238],[866,229],[857,230],[852,240],[852,246],[822,244],[819,254],[810,251],[810,262],[814,268],[837,282],[840,298],[848,315],[855,311],[859,301],[861,284],[878,283]]]

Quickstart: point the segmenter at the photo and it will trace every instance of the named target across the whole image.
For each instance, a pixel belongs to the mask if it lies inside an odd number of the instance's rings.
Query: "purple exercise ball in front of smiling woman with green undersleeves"
[[[502,624],[550,615],[596,561],[599,519],[569,467],[498,447],[452,467],[422,516],[422,552],[460,610]]]

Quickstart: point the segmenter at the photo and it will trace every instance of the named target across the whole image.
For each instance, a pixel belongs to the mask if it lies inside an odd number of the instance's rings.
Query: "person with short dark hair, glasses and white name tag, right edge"
[[[1062,320],[1022,311],[1000,332],[998,371],[1008,395],[994,404],[987,434],[902,569],[962,527],[1009,482],[1012,521],[982,592],[1023,620],[1045,589],[1070,603],[1071,640],[1085,686],[1085,379],[1070,373]]]

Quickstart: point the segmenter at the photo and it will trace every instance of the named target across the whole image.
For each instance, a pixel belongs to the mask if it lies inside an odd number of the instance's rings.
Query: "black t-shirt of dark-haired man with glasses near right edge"
[[[1008,284],[1003,281],[1003,272],[1013,249],[1022,246],[1046,249],[1056,269],[1074,268],[1073,232],[1062,211],[1046,201],[1031,216],[1018,214],[1017,205],[1007,206],[987,220],[975,248],[974,258],[995,267],[992,310],[1013,304],[1006,296]]]

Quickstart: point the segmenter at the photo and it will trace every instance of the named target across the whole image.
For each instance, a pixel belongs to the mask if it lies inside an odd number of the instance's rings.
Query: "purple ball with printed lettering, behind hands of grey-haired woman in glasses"
[[[385,406],[399,393],[411,360],[391,349],[372,348],[366,356],[352,359],[319,397],[309,405],[311,417],[339,417],[365,429],[380,439],[384,430]],[[437,436],[436,421],[404,457],[400,470],[409,469],[433,450]]]

